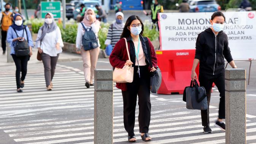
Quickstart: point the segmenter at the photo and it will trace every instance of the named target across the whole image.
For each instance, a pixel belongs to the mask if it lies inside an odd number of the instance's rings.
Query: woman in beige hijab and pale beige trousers
[[[88,8],[84,13],[83,21],[78,25],[77,35],[76,35],[76,52],[82,55],[83,66],[84,66],[84,77],[85,86],[89,88],[93,85],[92,80],[94,79],[94,70],[96,68],[99,52],[100,52],[100,41],[98,39],[98,46],[95,49],[84,50],[82,39],[85,32],[83,26],[86,28],[87,32],[92,30],[96,37],[98,37],[98,32],[100,30],[100,22],[96,20],[96,15],[94,10]]]

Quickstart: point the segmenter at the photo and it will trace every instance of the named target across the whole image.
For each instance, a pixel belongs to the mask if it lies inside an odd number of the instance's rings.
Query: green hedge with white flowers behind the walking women
[[[38,33],[39,28],[43,25],[44,21],[43,19],[31,19],[27,21],[27,23],[32,24],[32,31],[33,33]],[[66,28],[62,28],[62,24],[59,24],[57,22],[58,27],[60,28],[62,40],[68,43],[76,43],[76,33],[77,33],[77,27],[78,23],[76,23],[74,20],[68,21],[66,24]],[[108,28],[110,24],[104,24],[103,22],[100,24],[101,28],[99,31],[99,41],[100,41],[100,48],[105,49],[106,45],[105,40],[107,39],[107,33]],[[155,25],[152,28],[152,23],[149,21],[145,21],[144,23],[144,36],[148,37],[149,40],[153,41],[156,40],[159,36],[159,32],[156,31]]]

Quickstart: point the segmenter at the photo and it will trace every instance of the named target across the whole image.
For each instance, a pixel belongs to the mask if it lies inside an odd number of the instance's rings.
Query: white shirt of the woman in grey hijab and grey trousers
[[[37,39],[40,38],[42,35],[42,30],[38,31],[37,34]],[[59,43],[60,49],[56,49],[56,44]],[[43,50],[43,53],[50,55],[51,57],[56,57],[57,54],[62,52],[62,48],[64,47],[62,38],[61,38],[61,33],[60,33],[60,28],[57,27],[56,30],[46,33],[45,37],[41,41],[41,46],[40,46],[40,41],[36,42],[36,47],[40,47]]]

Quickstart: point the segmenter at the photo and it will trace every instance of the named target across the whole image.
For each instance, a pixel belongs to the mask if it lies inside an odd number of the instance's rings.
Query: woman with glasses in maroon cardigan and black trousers
[[[130,59],[126,51],[127,39]],[[153,67],[149,66],[151,57]],[[143,37],[143,23],[138,16],[130,16],[124,26],[124,31],[111,55],[110,64],[115,68],[122,68],[124,65],[134,67],[134,80],[132,83],[116,83],[116,87],[122,90],[124,102],[124,127],[128,132],[128,141],[135,142],[134,123],[135,108],[139,105],[139,127],[143,141],[151,141],[148,135],[150,123],[150,76],[156,71],[157,59],[151,41]]]

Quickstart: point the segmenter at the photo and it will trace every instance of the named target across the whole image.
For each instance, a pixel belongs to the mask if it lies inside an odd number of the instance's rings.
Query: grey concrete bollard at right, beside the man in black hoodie
[[[225,70],[226,144],[246,144],[246,72]]]

